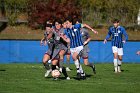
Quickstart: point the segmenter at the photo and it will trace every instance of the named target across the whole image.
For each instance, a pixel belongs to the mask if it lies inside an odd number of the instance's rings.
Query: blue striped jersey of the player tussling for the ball
[[[76,48],[83,46],[82,35],[80,32],[80,26],[73,26],[71,29],[67,28],[64,34],[70,39],[70,48]]]

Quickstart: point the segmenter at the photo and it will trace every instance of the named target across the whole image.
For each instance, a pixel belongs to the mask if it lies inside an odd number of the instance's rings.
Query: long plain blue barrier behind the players
[[[103,44],[103,41],[91,41],[89,47],[89,62],[112,62],[111,42]],[[40,41],[0,40],[0,63],[40,63],[47,48],[40,46]],[[127,42],[123,62],[140,63],[140,56],[136,55],[138,50],[140,42]]]

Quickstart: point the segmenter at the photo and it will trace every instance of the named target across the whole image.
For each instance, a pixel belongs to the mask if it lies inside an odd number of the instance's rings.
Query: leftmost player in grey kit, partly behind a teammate
[[[41,43],[41,45],[48,44],[48,50],[44,54],[44,57],[43,57],[43,65],[47,70],[45,73],[45,77],[48,77],[49,73],[51,72],[48,61],[52,57],[52,52],[53,52],[53,48],[54,48],[54,34],[53,34],[53,29],[52,29],[51,24],[46,25],[46,31],[45,31],[44,37],[41,39],[40,43]]]

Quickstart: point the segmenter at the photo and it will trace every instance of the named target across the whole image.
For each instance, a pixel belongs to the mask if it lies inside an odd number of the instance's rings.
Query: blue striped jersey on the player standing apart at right
[[[122,26],[118,26],[117,28],[115,28],[114,26],[109,28],[109,32],[108,35],[106,36],[106,40],[108,40],[112,35],[112,46],[116,46],[118,48],[123,48],[123,35],[124,40],[128,40],[128,35],[125,31],[125,28]]]

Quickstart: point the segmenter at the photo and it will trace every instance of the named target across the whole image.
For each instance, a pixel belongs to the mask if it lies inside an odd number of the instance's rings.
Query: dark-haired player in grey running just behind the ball
[[[62,24],[61,20],[55,21],[55,28],[54,28],[55,48],[52,56],[52,70],[56,69],[56,65],[59,62],[60,72],[62,72],[65,78],[69,80],[70,78],[68,77],[66,69],[63,66],[63,60],[64,60],[64,54],[67,51],[67,43],[69,43],[70,40],[63,35],[61,24]],[[54,59],[55,56],[58,55],[59,55],[59,59]]]

